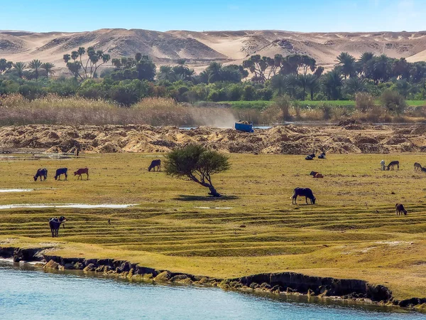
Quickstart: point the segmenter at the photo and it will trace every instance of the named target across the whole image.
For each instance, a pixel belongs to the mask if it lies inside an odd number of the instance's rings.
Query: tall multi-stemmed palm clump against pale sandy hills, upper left
[[[87,53],[87,60],[85,62],[83,61],[84,53]],[[68,70],[75,75],[75,78],[80,77],[81,80],[84,80],[94,78],[98,68],[107,63],[111,57],[102,50],[94,50],[94,47],[87,48],[87,51],[84,47],[80,47],[78,50],[72,51],[71,54],[63,55],[62,58]]]

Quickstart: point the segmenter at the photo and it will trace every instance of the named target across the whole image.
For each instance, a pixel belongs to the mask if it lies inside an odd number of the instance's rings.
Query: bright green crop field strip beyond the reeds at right
[[[224,102],[217,102],[218,104],[229,104],[232,107],[235,107],[237,109],[258,109],[262,110],[264,107],[268,107],[268,105],[271,105],[273,101],[224,101]],[[317,107],[320,105],[332,105],[335,107],[354,107],[355,101],[354,100],[329,100],[329,101],[299,101],[299,104],[301,107],[303,106],[310,106],[310,107]],[[426,106],[425,100],[407,100],[407,105],[410,107],[421,107]]]

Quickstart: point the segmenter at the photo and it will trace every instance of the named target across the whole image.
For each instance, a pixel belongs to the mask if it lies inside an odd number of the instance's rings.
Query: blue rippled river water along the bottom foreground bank
[[[0,319],[426,319],[361,304],[43,272],[0,262]]]

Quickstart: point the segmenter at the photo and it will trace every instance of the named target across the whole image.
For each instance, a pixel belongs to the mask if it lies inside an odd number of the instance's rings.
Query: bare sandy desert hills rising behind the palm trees
[[[211,61],[241,63],[248,55],[307,54],[325,68],[341,52],[359,57],[371,51],[410,62],[426,60],[426,31],[372,33],[299,33],[289,31],[148,31],[100,29],[64,33],[0,31],[0,58],[29,61],[38,58],[63,66],[62,55],[79,46],[95,46],[112,58],[150,55],[158,65],[186,58],[201,68]]]

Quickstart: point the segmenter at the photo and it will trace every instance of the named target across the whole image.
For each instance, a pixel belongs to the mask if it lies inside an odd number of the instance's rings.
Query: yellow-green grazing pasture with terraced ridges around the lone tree
[[[158,155],[157,155],[158,156]],[[231,170],[214,177],[226,196],[204,197],[190,181],[148,172],[146,154],[92,154],[80,159],[0,161],[0,193],[11,203],[133,203],[127,209],[0,210],[0,245],[54,247],[66,257],[114,257],[175,272],[237,277],[295,271],[366,279],[395,297],[426,296],[426,176],[413,171],[424,154],[302,156],[231,154]],[[400,171],[380,171],[381,159]],[[89,181],[55,181],[54,169],[88,166]],[[45,182],[34,182],[38,168]],[[323,179],[313,179],[310,171]],[[71,172],[70,172],[71,173]],[[308,186],[315,206],[292,206]],[[407,216],[395,215],[402,202]],[[48,218],[65,215],[60,238]],[[111,225],[107,222],[111,219]]]

